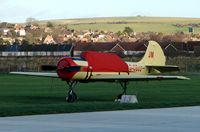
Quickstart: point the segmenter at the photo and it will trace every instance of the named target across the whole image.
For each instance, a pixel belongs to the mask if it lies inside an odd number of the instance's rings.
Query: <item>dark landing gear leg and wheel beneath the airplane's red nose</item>
[[[74,92],[74,87],[77,84],[77,81],[69,81],[67,82],[69,85],[69,91],[68,91],[68,97],[66,97],[66,100],[68,103],[72,103],[77,100],[77,95]]]

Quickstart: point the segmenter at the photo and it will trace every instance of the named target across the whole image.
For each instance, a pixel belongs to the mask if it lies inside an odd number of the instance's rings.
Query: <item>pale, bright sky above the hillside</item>
[[[0,0],[0,22],[123,16],[200,18],[200,0]]]

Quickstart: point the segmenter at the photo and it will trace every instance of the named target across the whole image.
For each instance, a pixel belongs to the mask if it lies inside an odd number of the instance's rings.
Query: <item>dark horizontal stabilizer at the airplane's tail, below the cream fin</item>
[[[165,66],[151,66],[151,65],[146,65],[147,68],[149,69],[155,69],[160,72],[174,72],[174,71],[180,71],[178,66],[172,66],[172,65],[165,65]]]

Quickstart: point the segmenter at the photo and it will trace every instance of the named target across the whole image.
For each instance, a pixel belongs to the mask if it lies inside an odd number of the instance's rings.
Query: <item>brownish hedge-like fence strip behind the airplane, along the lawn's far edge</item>
[[[0,72],[39,71],[41,65],[56,65],[60,56],[0,57]],[[126,61],[137,62],[141,57],[125,58]],[[177,65],[181,72],[200,72],[200,57],[167,58],[167,64]]]

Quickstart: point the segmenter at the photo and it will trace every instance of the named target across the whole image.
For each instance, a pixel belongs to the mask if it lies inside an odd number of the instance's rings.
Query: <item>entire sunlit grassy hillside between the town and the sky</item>
[[[200,18],[173,18],[173,17],[108,17],[108,18],[84,18],[84,19],[59,19],[50,20],[56,25],[67,25],[69,29],[76,30],[105,30],[122,31],[129,26],[135,32],[162,32],[176,33],[183,31],[188,33],[188,27],[176,27],[174,24],[199,24]],[[45,25],[47,21],[40,21]],[[121,24],[111,24],[122,22]],[[123,24],[125,22],[125,24]],[[200,33],[200,28],[194,28],[194,33]]]

